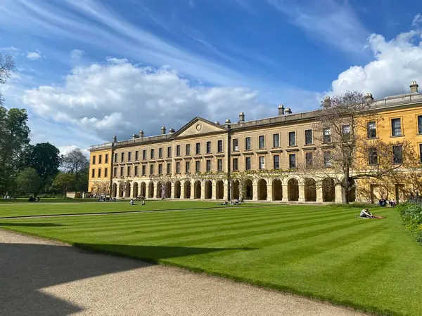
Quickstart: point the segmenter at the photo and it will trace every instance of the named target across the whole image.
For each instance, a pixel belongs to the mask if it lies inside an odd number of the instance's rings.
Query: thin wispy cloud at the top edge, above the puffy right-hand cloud
[[[370,32],[347,1],[343,4],[335,0],[267,1],[313,39],[342,51],[359,53],[364,50]]]

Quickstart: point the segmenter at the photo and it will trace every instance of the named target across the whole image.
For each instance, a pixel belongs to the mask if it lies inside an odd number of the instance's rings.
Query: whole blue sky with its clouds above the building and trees
[[[417,1],[0,0],[7,107],[65,151],[422,80]]]

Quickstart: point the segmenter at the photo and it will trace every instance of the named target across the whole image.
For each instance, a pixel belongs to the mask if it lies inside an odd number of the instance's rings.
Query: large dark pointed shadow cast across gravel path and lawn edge
[[[0,243],[0,315],[70,315],[84,310],[84,306],[40,290],[79,279],[146,268],[151,266],[151,262],[158,262],[162,258],[231,250],[117,244],[75,246],[89,252],[75,251],[75,248],[60,245]],[[139,258],[150,263],[94,254],[91,251]],[[95,287],[92,291],[95,291]]]

